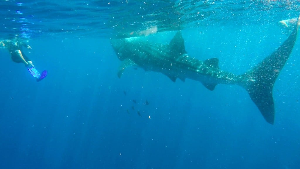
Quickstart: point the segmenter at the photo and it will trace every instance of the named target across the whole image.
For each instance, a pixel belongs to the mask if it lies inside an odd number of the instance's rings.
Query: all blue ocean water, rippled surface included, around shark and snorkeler
[[[110,45],[153,26],[146,39],[168,44],[180,29],[190,56],[242,74],[288,37],[277,23],[297,17],[298,2],[0,4],[0,37],[28,39],[22,52],[48,70],[37,83],[0,48],[0,168],[300,167],[299,41],[274,85],[274,125],[237,85],[209,91],[140,68],[118,78]]]

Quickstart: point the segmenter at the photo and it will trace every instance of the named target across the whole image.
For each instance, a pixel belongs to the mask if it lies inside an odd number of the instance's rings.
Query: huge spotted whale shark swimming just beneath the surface
[[[217,58],[201,61],[190,57],[185,51],[180,31],[167,45],[132,37],[110,39],[110,42],[117,57],[122,61],[118,71],[119,78],[126,68],[137,66],[146,71],[167,75],[173,82],[178,78],[182,81],[186,78],[199,81],[211,91],[217,84],[237,84],[247,90],[265,120],[274,124],[273,85],[295,45],[298,25],[299,23],[277,50],[241,75],[222,71]]]

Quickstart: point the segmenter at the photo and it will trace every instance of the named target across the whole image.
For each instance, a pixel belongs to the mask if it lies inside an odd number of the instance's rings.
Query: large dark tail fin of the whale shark
[[[300,24],[299,18],[297,26],[286,41],[269,57],[241,76],[244,79],[242,86],[246,88],[263,117],[270,124],[274,123],[273,85],[295,45]]]

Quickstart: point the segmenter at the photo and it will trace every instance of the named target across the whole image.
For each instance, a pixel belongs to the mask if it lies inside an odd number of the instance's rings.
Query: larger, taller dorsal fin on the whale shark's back
[[[172,57],[177,58],[182,54],[186,54],[184,47],[184,39],[182,38],[181,32],[177,32],[173,39],[168,45],[170,54]]]

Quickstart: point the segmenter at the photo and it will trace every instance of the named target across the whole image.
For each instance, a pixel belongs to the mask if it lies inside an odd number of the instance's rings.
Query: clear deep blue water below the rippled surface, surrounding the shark
[[[190,56],[218,57],[221,69],[239,74],[287,38],[281,31],[225,26],[182,34]],[[148,38],[168,43],[174,34]],[[109,39],[35,38],[29,45],[24,52],[49,72],[38,83],[0,49],[0,168],[300,166],[299,41],[274,86],[274,125],[239,86],[208,91],[130,68],[119,79]]]

